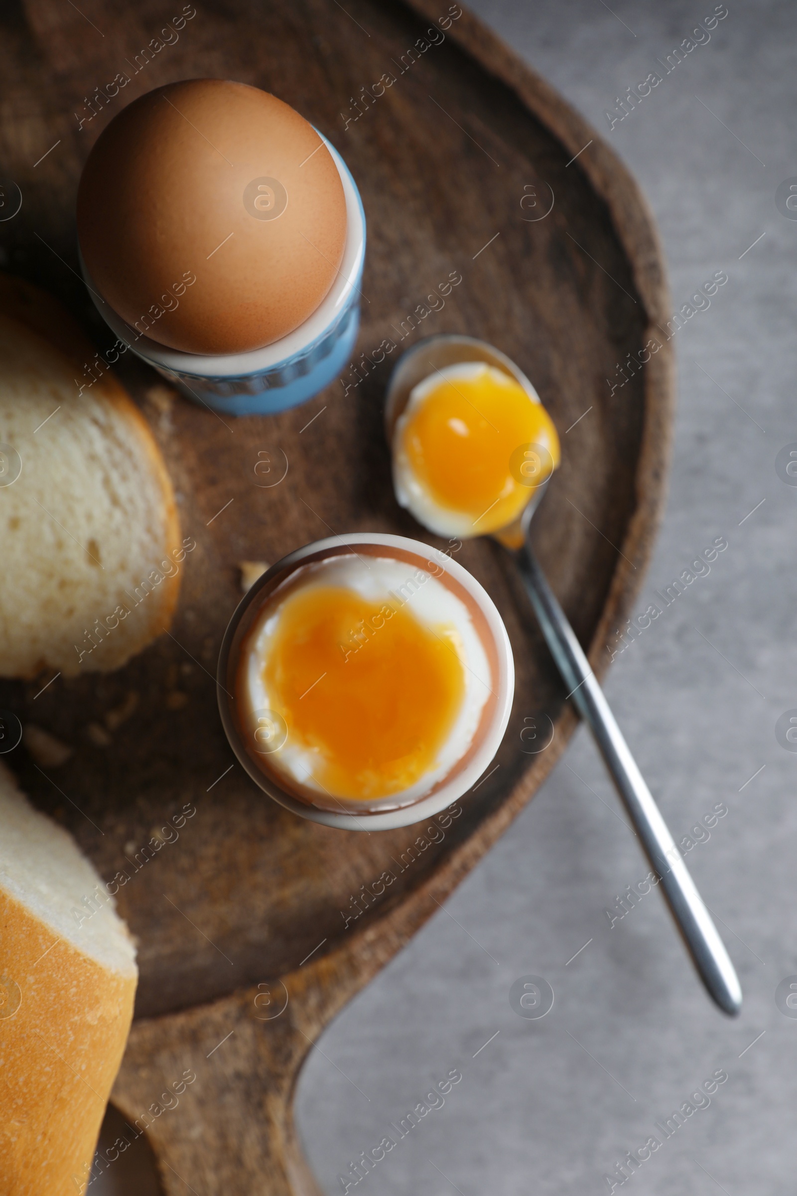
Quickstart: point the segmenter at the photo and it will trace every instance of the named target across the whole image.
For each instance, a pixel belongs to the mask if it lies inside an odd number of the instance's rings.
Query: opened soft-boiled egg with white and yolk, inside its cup
[[[495,684],[442,569],[343,555],[298,570],[264,605],[237,702],[252,739],[265,738],[262,767],[311,804],[400,807],[462,759]]]

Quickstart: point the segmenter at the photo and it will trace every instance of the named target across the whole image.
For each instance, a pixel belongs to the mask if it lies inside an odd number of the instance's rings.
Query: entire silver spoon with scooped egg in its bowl
[[[398,361],[385,422],[398,502],[439,536],[492,536],[510,554],[551,654],[589,725],[709,994],[723,1012],[742,991],[664,819],[528,543],[559,465],[559,438],[532,383],[471,336],[419,341]]]

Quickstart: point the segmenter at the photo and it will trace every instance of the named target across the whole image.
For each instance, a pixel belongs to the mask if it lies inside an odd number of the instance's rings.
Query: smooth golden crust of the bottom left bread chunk
[[[0,886],[0,1176],[13,1196],[88,1178],[136,977],[106,971]]]

